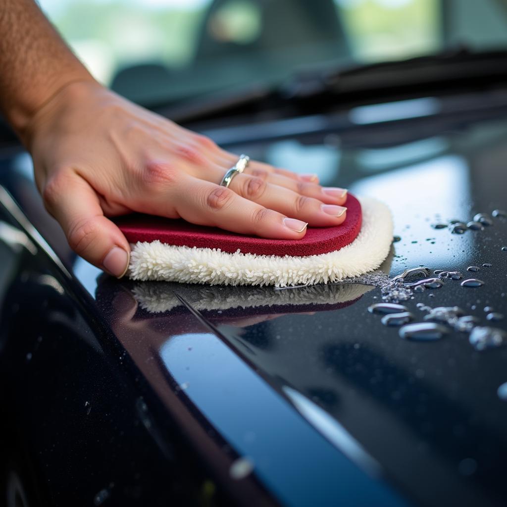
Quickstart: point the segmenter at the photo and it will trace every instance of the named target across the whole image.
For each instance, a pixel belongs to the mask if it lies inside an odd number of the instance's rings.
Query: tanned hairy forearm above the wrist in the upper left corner
[[[33,0],[0,6],[0,109],[26,143],[30,120],[51,97],[93,78]]]

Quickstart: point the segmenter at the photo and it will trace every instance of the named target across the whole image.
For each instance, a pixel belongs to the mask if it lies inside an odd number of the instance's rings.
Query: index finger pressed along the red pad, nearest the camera
[[[307,224],[244,199],[231,189],[187,176],[185,192],[173,191],[152,198],[157,214],[177,214],[193,224],[272,239],[300,239]]]

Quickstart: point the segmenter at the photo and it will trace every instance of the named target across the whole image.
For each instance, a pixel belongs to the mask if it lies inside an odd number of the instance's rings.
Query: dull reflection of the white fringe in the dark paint
[[[335,305],[353,301],[373,289],[371,286],[355,283],[327,285],[329,290],[323,288],[311,286],[296,291],[275,291],[272,288],[236,287],[227,290],[223,287],[221,291],[214,287],[191,286],[189,294],[183,294],[183,297],[194,309],[211,311],[274,305]],[[183,305],[164,283],[139,283],[132,289],[132,294],[140,307],[150,313],[163,313]]]

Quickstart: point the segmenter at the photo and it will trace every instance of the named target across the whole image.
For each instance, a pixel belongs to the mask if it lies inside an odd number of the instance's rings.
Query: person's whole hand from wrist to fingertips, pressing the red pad
[[[123,276],[130,247],[107,217],[136,211],[265,238],[300,239],[306,225],[345,220],[346,191],[237,159],[209,138],[144,110],[94,81],[71,83],[30,121],[24,139],[46,209],[69,245]]]

